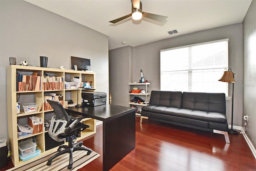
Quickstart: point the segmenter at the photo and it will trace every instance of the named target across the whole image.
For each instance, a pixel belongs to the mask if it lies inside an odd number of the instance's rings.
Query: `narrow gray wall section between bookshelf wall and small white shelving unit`
[[[129,106],[128,82],[132,82],[132,46],[109,51],[111,104]]]

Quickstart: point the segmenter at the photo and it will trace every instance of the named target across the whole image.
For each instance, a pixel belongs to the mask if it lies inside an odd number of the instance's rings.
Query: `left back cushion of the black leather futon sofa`
[[[181,91],[151,91],[150,105],[181,107]]]

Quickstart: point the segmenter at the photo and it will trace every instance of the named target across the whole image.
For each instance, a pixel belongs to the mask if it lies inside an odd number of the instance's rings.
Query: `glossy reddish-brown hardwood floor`
[[[256,159],[243,135],[229,135],[230,144],[226,144],[224,135],[139,121],[136,116],[135,149],[111,171],[256,171]],[[84,139],[84,145],[101,156],[79,171],[102,170],[102,125],[96,131]],[[8,163],[6,168],[13,167]]]

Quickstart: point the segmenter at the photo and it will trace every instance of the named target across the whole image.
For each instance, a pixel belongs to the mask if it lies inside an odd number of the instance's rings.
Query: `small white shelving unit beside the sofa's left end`
[[[143,89],[146,91],[146,93],[130,93],[134,87],[138,87],[138,89]],[[147,106],[149,104],[150,100],[150,83],[129,83],[129,105],[130,106],[136,106],[138,109],[138,112],[136,112],[136,115],[140,115],[140,109],[142,106]],[[144,103],[134,103],[131,100],[134,99],[134,97],[140,97],[141,99],[144,99]]]

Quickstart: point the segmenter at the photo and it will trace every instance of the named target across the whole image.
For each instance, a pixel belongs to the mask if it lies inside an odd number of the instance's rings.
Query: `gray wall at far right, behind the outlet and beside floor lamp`
[[[253,0],[243,21],[244,31],[244,105],[248,115],[246,135],[256,147],[256,0]],[[243,121],[244,125],[244,121]],[[244,126],[243,126],[244,127]]]

